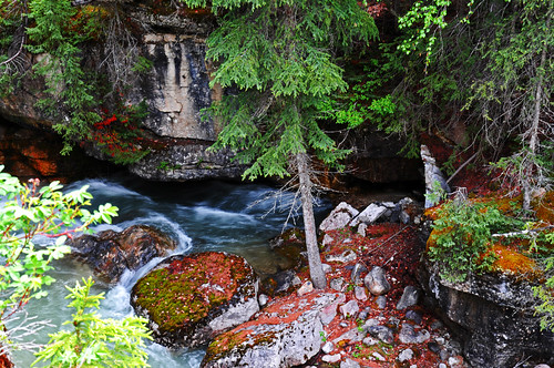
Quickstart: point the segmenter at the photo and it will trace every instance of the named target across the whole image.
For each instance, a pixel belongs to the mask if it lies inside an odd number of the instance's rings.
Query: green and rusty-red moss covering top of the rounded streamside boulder
[[[239,256],[212,252],[174,256],[136,283],[133,305],[145,310],[161,331],[172,333],[206,318],[254,277]]]

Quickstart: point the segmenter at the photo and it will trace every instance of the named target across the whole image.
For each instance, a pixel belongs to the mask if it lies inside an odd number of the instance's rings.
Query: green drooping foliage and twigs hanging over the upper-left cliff
[[[119,1],[78,3],[0,1],[0,95],[13,93],[22,78],[42,79],[45,89],[37,91],[38,108],[64,139],[62,154],[69,153],[75,142],[94,141],[93,125],[104,120],[106,108],[115,110],[123,104],[121,91],[133,80],[130,75],[141,73],[145,64],[138,58],[136,40],[121,20]],[[101,39],[105,40],[104,52],[91,68],[83,53],[89,42]],[[122,144],[140,149],[133,142]],[[120,152],[114,150],[107,157],[115,154]],[[127,156],[136,161],[144,154]]]

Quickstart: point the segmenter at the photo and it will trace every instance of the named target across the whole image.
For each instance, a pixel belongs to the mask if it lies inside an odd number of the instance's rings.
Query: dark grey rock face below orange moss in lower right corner
[[[472,366],[507,368],[523,358],[554,356],[554,334],[541,331],[529,283],[483,275],[451,284],[428,269],[423,287],[444,318],[461,327],[464,356]]]

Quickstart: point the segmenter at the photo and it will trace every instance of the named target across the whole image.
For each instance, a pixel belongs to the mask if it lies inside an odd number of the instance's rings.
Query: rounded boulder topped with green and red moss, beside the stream
[[[236,255],[176,255],[138,279],[131,293],[136,314],[150,320],[156,343],[171,348],[207,345],[259,310],[258,279]]]

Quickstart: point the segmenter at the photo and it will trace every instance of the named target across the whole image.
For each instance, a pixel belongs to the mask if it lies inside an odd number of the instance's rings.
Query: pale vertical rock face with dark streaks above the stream
[[[199,111],[222,92],[209,88],[206,34],[192,37],[189,31],[143,35],[144,57],[154,68],[142,81],[142,91],[133,93],[137,99],[146,94],[151,113],[144,124],[157,135],[214,141],[216,129],[202,121]]]

